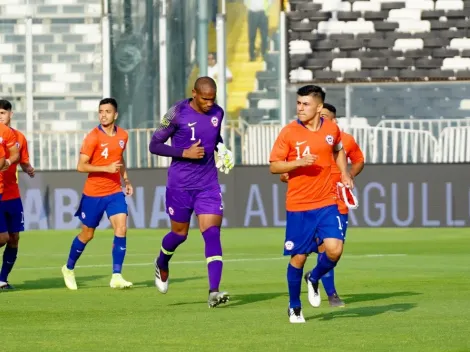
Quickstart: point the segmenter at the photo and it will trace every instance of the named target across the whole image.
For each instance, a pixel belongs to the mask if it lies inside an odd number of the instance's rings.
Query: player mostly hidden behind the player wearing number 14
[[[330,120],[334,123],[337,123],[336,119],[336,108],[331,104],[323,104],[323,109],[320,113],[320,116],[325,120]],[[356,140],[350,134],[341,131],[341,142],[343,144],[344,152],[346,153],[346,159],[351,161],[351,167],[349,169],[349,175],[354,179],[357,175],[361,173],[364,169],[364,154],[361,151],[361,148],[356,143]],[[337,183],[341,182],[341,171],[336,166],[332,165],[331,169],[332,182],[333,186],[336,188]],[[346,239],[346,231],[348,228],[348,212],[349,208],[343,200],[341,194],[338,194],[338,210],[341,216],[341,226],[343,228],[344,238]],[[320,260],[321,254],[324,252],[324,246],[321,245],[318,248],[318,259]],[[309,284],[308,276],[310,272],[307,272],[304,276],[305,281],[308,284],[309,289],[309,301],[313,307],[319,307],[321,304],[320,292],[315,290],[315,287]],[[335,287],[335,276],[334,269],[331,269],[328,273],[323,275],[321,278],[323,288],[328,296],[328,302],[331,307],[344,307],[344,302],[339,298],[338,293],[336,292]]]

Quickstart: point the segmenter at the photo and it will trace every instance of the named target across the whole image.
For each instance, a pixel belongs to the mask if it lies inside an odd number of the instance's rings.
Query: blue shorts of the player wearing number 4
[[[81,220],[83,225],[96,229],[104,212],[106,212],[108,219],[116,214],[127,215],[124,193],[119,192],[104,197],[89,197],[83,194],[75,216]]]

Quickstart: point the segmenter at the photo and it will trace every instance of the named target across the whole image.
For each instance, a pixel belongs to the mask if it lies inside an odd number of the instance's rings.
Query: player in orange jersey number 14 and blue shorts
[[[281,130],[269,158],[271,173],[289,173],[284,255],[291,257],[287,267],[291,323],[305,323],[300,291],[307,256],[324,244],[325,252],[308,278],[318,290],[320,278],[336,266],[343,251],[341,216],[331,181],[333,163],[341,170],[342,183],[353,187],[340,130],[320,117],[324,99],[318,86],[297,91],[298,119]]]

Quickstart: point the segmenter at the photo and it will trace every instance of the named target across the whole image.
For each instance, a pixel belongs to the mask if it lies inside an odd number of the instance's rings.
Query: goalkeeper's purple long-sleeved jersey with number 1
[[[220,130],[224,117],[223,109],[214,104],[206,114],[195,111],[186,99],[176,103],[163,117],[155,130],[149,150],[152,154],[172,157],[168,170],[168,188],[185,190],[218,187],[219,179],[215,167],[214,152],[222,142]],[[164,143],[171,138],[171,147]],[[204,158],[183,158],[183,150],[201,140]]]

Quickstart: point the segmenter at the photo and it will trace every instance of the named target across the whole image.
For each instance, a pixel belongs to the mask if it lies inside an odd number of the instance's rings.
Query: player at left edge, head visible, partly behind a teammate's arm
[[[13,116],[12,106],[8,100],[0,100],[0,123],[10,127]],[[3,172],[3,196],[0,216],[6,222],[8,242],[3,252],[2,269],[0,270],[0,289],[11,290],[14,287],[8,283],[8,275],[15,265],[18,255],[18,242],[20,232],[24,231],[23,203],[21,202],[18,187],[18,167],[30,177],[34,177],[34,168],[29,163],[28,143],[25,136],[18,130],[10,127],[16,137],[16,147],[19,150],[19,160],[12,163]]]

